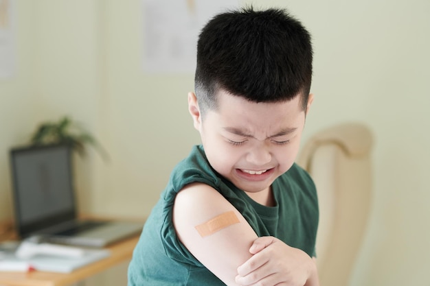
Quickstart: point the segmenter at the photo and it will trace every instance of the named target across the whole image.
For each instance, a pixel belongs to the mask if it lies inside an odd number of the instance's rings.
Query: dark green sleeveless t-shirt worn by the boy
[[[225,285],[183,246],[173,227],[174,198],[192,182],[203,182],[218,190],[259,237],[277,237],[309,256],[315,254],[317,192],[306,171],[294,164],[278,177],[272,184],[276,205],[263,206],[214,171],[199,145],[173,169],[152,209],[128,267],[128,286]]]

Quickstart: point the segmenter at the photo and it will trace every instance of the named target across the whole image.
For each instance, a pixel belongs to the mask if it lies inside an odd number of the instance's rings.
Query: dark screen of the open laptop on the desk
[[[76,217],[69,145],[14,149],[10,155],[21,237]]]

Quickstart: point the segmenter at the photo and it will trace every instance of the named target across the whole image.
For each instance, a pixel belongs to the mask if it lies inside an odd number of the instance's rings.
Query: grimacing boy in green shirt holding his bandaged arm
[[[319,285],[315,185],[294,160],[310,94],[310,35],[283,10],[214,17],[188,109],[202,145],[174,168],[128,285]]]

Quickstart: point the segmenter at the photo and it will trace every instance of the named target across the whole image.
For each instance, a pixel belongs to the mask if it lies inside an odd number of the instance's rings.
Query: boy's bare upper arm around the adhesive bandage
[[[196,226],[233,211],[238,223],[201,236]],[[179,240],[208,270],[227,285],[236,285],[237,267],[251,257],[249,248],[257,238],[245,218],[218,191],[207,184],[186,186],[177,194],[173,223]]]

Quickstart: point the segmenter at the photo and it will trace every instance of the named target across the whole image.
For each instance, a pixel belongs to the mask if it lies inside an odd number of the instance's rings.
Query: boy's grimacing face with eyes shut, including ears
[[[253,197],[295,161],[305,123],[300,99],[255,103],[220,91],[218,110],[207,110],[203,121],[193,93],[188,104],[210,165]],[[312,101],[309,95],[308,108]]]

